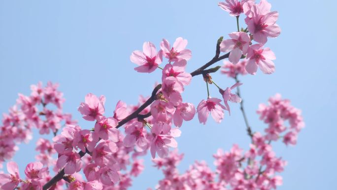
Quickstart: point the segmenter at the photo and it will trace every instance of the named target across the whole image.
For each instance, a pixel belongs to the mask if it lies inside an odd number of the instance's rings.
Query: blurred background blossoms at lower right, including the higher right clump
[[[304,123],[300,110],[290,105],[289,100],[281,99],[277,94],[269,102],[269,106],[261,104],[257,111],[261,114],[260,119],[269,124],[266,134],[255,132],[247,151],[237,145],[233,145],[229,152],[219,149],[213,155],[214,171],[204,161],[196,161],[185,173],[179,173],[176,167],[183,154],[177,150],[170,152],[166,158],[153,159],[155,167],[162,169],[164,174],[156,190],[271,190],[282,185],[282,177],[278,173],[284,170],[287,162],[276,156],[271,142],[277,141],[278,133],[286,128],[277,123],[289,120],[291,131],[283,137],[286,145],[296,144],[297,132]],[[271,130],[279,132],[270,134]]]

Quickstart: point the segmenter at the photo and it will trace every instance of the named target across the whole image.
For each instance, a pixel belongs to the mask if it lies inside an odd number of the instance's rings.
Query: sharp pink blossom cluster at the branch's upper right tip
[[[275,55],[269,47],[263,46],[267,38],[275,38],[281,33],[276,24],[277,11],[270,12],[271,5],[267,0],[261,0],[260,3],[255,3],[254,0],[226,0],[220,2],[219,6],[237,19],[244,13],[244,21],[247,24],[246,29],[229,34],[231,39],[221,42],[220,51],[230,52],[229,61],[233,64],[237,64],[240,58],[245,56],[245,70],[251,75],[256,74],[258,67],[265,74],[273,73],[275,65],[272,60],[275,59]],[[252,44],[252,40],[257,43]]]

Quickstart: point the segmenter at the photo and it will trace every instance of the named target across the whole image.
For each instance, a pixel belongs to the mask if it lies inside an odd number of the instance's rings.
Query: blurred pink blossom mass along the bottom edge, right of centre
[[[230,152],[220,149],[213,156],[214,171],[206,162],[196,161],[182,174],[176,168],[182,154],[170,152],[166,158],[154,159],[164,174],[156,190],[271,190],[282,185],[282,177],[276,174],[286,161],[276,157],[268,144],[251,145],[247,152],[234,145]]]

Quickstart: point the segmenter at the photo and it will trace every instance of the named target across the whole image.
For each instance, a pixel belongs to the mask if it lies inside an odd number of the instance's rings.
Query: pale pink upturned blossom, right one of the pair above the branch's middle
[[[187,39],[183,39],[181,37],[176,38],[173,47],[170,47],[169,41],[163,39],[160,43],[160,48],[163,51],[163,54],[166,58],[171,61],[179,61],[179,60],[186,60],[188,61],[192,57],[191,50],[185,49],[187,45]]]

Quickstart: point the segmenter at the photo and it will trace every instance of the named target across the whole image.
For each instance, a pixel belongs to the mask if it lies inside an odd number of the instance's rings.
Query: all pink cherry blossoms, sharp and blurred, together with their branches
[[[240,75],[256,75],[257,68],[264,74],[275,71],[274,53],[264,47],[268,38],[280,34],[275,24],[278,13],[270,11],[270,3],[261,0],[226,0],[218,4],[237,20],[237,32],[228,39],[219,38],[215,56],[195,71],[185,68],[192,56],[186,49],[187,40],[176,38],[173,45],[167,39],[155,44],[144,42],[142,51],[134,51],[130,60],[137,64],[135,71],[152,73],[162,71],[162,82],[151,96],[140,96],[136,106],[119,101],[111,115],[105,116],[105,97],[87,94],[78,111],[83,119],[95,121],[89,129],[82,129],[71,114],[62,113],[64,98],[58,85],[48,82],[32,85],[30,96],[19,94],[17,104],[3,114],[0,132],[0,163],[7,162],[8,174],[0,174],[0,190],[125,190],[132,186],[132,177],[144,169],[140,156],[150,151],[155,166],[164,173],[156,190],[270,190],[282,184],[279,173],[286,161],[277,157],[272,142],[282,139],[286,145],[295,145],[297,135],[304,127],[301,111],[289,100],[276,94],[269,105],[261,104],[257,111],[268,127],[265,133],[254,132],[248,123],[239,87]],[[240,15],[245,15],[247,27],[239,28]],[[226,54],[221,55],[221,52]],[[163,57],[167,64],[162,68]],[[221,88],[211,77],[221,68],[213,64],[224,61],[221,73],[236,83]],[[183,101],[182,92],[194,76],[202,75],[207,97],[196,107]],[[210,97],[208,87],[214,84],[219,93]],[[212,85],[213,86],[213,85]],[[236,93],[234,92],[236,90]],[[223,101],[223,102],[222,102]],[[184,173],[176,166],[183,158],[177,150],[179,127],[198,114],[200,123],[207,122],[209,114],[220,123],[230,104],[239,103],[251,144],[247,151],[233,145],[229,152],[214,154],[213,171],[205,162],[196,161]],[[9,161],[18,150],[17,144],[32,138],[32,129],[39,133],[53,133],[53,141],[40,138],[36,143],[36,161],[29,163],[20,176],[17,164]],[[124,128],[124,133],[119,130]],[[58,133],[62,130],[60,133]],[[158,154],[159,157],[156,157]],[[57,155],[57,156],[56,156]],[[54,177],[49,170],[56,173]]]

